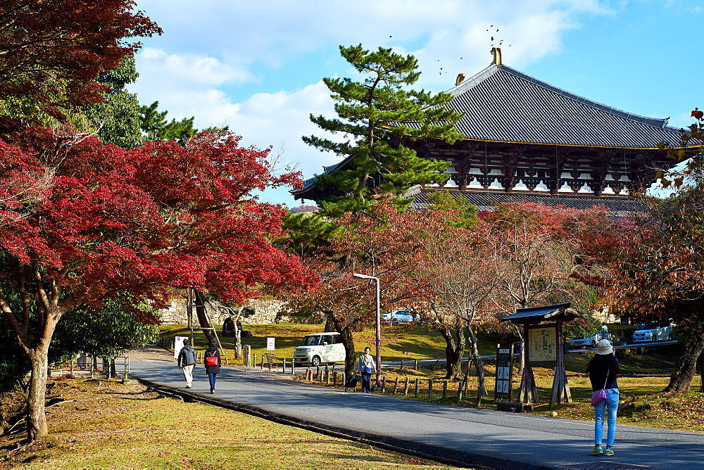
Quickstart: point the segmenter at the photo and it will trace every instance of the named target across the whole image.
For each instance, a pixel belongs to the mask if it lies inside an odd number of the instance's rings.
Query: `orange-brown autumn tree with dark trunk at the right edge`
[[[681,354],[665,391],[686,392],[704,351],[704,169],[691,167],[669,198],[641,196],[646,204],[607,279],[612,303],[640,321],[677,324]],[[704,389],[703,389],[704,390]]]

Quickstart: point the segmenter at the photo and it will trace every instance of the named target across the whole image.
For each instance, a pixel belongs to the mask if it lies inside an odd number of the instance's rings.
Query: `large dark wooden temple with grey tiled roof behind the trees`
[[[589,208],[598,205],[612,213],[636,209],[628,198],[635,189],[649,187],[658,169],[670,168],[658,144],[679,144],[679,129],[667,119],[646,118],[596,103],[553,87],[501,63],[474,77],[458,76],[449,106],[464,113],[456,128],[464,138],[455,144],[439,139],[404,141],[417,154],[450,163],[447,182],[415,186],[413,207],[428,202],[427,193],[451,191],[480,209],[489,201],[534,202]],[[324,167],[341,170],[349,158]],[[296,199],[317,201],[331,188],[319,187],[315,177]]]

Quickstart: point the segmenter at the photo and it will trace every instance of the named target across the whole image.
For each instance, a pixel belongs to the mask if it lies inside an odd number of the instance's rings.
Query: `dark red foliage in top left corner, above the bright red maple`
[[[132,0],[0,1],[0,131],[102,101],[101,72],[161,28]]]

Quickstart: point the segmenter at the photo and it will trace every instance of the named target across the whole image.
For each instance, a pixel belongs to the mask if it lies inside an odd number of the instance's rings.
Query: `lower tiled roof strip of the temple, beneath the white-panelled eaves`
[[[427,194],[432,191],[420,191],[413,194],[413,203],[410,205],[414,209],[423,209],[429,205],[430,200]],[[451,194],[457,197],[465,198],[467,201],[476,205],[479,210],[494,210],[494,205],[489,201],[496,203],[535,203],[547,205],[548,207],[562,206],[563,208],[574,209],[589,209],[595,205],[599,208],[605,208],[612,215],[622,217],[629,212],[643,210],[643,205],[638,201],[623,198],[598,198],[598,197],[579,197],[579,196],[552,196],[543,194],[526,194],[526,193],[469,193],[464,191],[453,191]]]

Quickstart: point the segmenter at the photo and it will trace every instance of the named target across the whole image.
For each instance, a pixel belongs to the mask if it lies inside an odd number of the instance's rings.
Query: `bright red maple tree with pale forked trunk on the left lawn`
[[[0,167],[28,182],[50,179],[28,204],[0,172],[0,308],[32,366],[30,440],[47,432],[49,347],[70,310],[93,316],[111,302],[153,322],[139,305],[168,305],[172,286],[241,302],[258,286],[314,283],[298,258],[270,243],[281,236],[285,212],[251,196],[299,184],[298,175],[272,177],[268,151],[241,148],[239,140],[204,133],[186,147],[161,141],[128,151],[34,129],[0,142]]]

